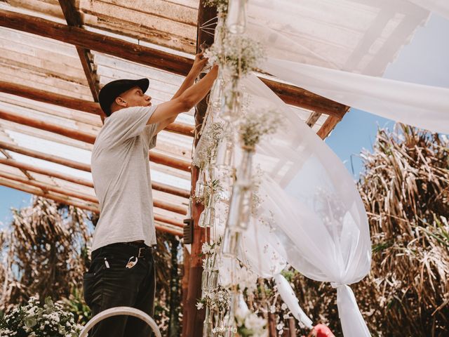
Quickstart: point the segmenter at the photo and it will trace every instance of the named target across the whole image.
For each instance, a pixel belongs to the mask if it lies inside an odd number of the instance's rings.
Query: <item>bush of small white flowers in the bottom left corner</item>
[[[0,317],[0,337],[78,337],[83,326],[62,309],[61,303],[46,298],[41,306],[36,297]]]

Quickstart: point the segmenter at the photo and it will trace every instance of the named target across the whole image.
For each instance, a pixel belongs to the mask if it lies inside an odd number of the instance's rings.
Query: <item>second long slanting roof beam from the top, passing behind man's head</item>
[[[81,100],[79,98],[72,98],[66,95],[59,95],[57,93],[39,90],[30,86],[22,86],[20,84],[13,84],[0,80],[0,91],[28,98],[30,100],[37,100],[38,102],[67,107],[69,109],[88,112],[90,114],[97,114],[98,116],[101,116],[103,113],[98,103]],[[185,123],[172,123],[164,130],[180,133],[185,136],[194,136],[194,127]]]

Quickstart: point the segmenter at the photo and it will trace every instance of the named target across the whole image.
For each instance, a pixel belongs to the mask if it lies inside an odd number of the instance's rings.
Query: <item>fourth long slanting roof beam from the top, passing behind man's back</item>
[[[74,160],[70,160],[70,159],[65,159],[65,158],[62,158],[62,157],[54,156],[53,154],[46,154],[46,153],[43,153],[43,152],[38,152],[38,151],[34,151],[34,150],[28,150],[28,149],[25,149],[23,147],[19,147],[17,145],[13,145],[13,144],[10,144],[10,143],[6,143],[6,142],[1,142],[0,141],[0,149],[13,151],[13,152],[16,152],[16,153],[19,153],[19,154],[23,154],[23,155],[28,156],[28,157],[33,157],[33,158],[36,158],[36,159],[42,159],[42,160],[46,160],[46,161],[51,161],[52,163],[68,166],[68,167],[71,167],[72,169],[77,169],[77,170],[81,170],[81,171],[91,172],[91,166],[88,165],[88,164],[83,164],[83,163],[80,163],[78,161],[74,161]],[[187,199],[190,197],[190,192],[189,191],[182,190],[181,188],[173,187],[173,186],[162,184],[162,183],[154,183],[154,182],[152,182],[152,188],[153,188],[153,190],[160,191],[160,192],[165,192],[165,193],[168,193],[168,194],[177,195],[178,197],[183,197],[183,198],[187,198]]]

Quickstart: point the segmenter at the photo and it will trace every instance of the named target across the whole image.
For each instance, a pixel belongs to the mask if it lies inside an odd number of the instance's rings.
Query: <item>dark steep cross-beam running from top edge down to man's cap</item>
[[[83,25],[83,20],[81,19],[81,15],[79,15],[79,12],[76,11],[76,6],[73,0],[59,0],[59,4],[62,8],[62,13],[64,13],[67,25],[69,25],[70,27],[81,27]],[[79,60],[81,61],[81,65],[83,66],[84,74],[86,75],[89,88],[91,89],[93,100],[95,100],[95,102],[98,102],[98,93],[100,91],[98,84],[100,83],[100,81],[91,64],[93,55],[88,49],[81,48],[79,46],[76,46],[76,51],[78,52]],[[106,116],[102,114],[101,117],[102,120],[104,120]]]

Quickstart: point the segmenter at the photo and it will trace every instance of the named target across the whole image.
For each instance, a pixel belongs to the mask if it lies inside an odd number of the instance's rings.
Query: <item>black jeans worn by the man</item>
[[[136,257],[137,263],[126,268]],[[109,244],[95,249],[91,267],[83,275],[84,299],[92,310],[92,317],[119,306],[137,308],[153,317],[155,288],[153,254],[144,244]],[[115,316],[96,324],[89,336],[149,337],[150,332],[148,324],[137,317]]]

